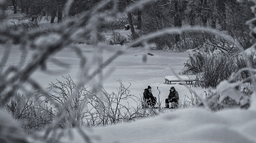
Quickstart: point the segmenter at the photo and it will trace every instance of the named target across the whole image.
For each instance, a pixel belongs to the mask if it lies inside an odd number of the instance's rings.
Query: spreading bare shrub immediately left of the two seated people
[[[124,103],[127,100],[136,100],[136,97],[130,94],[130,85],[126,88],[121,80],[119,80],[119,83],[117,93],[108,93],[102,88],[104,96],[101,98],[95,94],[89,96],[88,108],[86,109],[87,125],[111,125],[137,120],[140,117],[137,108],[129,107],[129,104],[127,106]]]

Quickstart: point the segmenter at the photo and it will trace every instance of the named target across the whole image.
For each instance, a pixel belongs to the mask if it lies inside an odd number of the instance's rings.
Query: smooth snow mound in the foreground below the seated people
[[[158,117],[105,127],[83,128],[94,142],[256,142],[256,112],[228,109],[209,112],[203,108],[179,109]],[[78,131],[74,140],[82,142]]]

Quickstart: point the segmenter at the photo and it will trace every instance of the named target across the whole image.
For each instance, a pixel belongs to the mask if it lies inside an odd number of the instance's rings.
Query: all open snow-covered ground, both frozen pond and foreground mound
[[[82,47],[88,60],[92,61],[94,48],[90,45],[79,46]],[[142,55],[148,52],[153,55],[148,55],[148,61],[143,63]],[[0,53],[3,53],[3,46],[0,48]],[[112,54],[113,52],[104,50],[103,59],[107,59]],[[7,66],[18,65],[18,55],[20,55],[20,50],[13,48]],[[66,49],[58,53],[56,57],[71,65],[69,71],[61,74],[64,76],[69,74],[73,80],[78,80],[79,60],[77,55]],[[165,76],[174,75],[170,68],[176,72],[180,71],[187,58],[188,53],[173,53],[164,50],[145,51],[133,48],[107,66],[106,69],[115,70],[103,81],[102,85],[106,90],[115,92],[119,85],[117,80],[122,80],[124,85],[132,84],[129,89],[135,96],[142,96],[143,89],[148,85],[152,87],[154,96],[157,96],[157,87],[159,87],[162,103],[164,103],[170,87],[174,86],[183,101],[184,95],[190,95],[189,90],[178,82],[174,82],[172,85],[167,85],[164,82]],[[31,60],[33,59],[30,57],[24,59],[26,62]],[[53,64],[48,64],[48,68],[58,69]],[[42,86],[47,87],[49,82],[55,82],[55,79],[61,80],[61,74],[49,75],[37,71],[32,77]],[[203,91],[207,90],[193,87],[192,89],[199,94],[203,94]],[[130,104],[130,106],[136,106],[136,104]],[[178,109],[176,112],[166,113],[159,117],[149,117],[133,123],[121,123],[106,127],[84,128],[84,131],[95,142],[256,142],[254,135],[256,132],[255,113],[253,109],[249,111],[229,109],[215,113],[201,108]],[[76,129],[73,129],[72,133],[75,136],[72,141],[65,138],[64,142],[83,142],[82,136]]]

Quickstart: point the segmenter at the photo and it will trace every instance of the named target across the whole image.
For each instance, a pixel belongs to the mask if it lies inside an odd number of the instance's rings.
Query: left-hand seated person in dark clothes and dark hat
[[[144,90],[143,99],[148,107],[154,107],[156,105],[157,98],[153,96],[150,86],[148,86],[148,88]],[[147,106],[143,106],[143,107],[147,107]]]

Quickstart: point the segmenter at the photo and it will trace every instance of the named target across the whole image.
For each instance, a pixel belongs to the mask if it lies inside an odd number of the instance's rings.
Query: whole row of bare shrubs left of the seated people
[[[138,103],[141,101],[130,94],[131,85],[125,87],[121,80],[119,80],[117,92],[108,93],[102,87],[103,96],[82,87],[67,107],[64,107],[77,85],[70,76],[63,78],[63,82],[61,80],[50,82],[47,88],[48,93],[34,93],[29,98],[17,93],[4,103],[7,112],[21,123],[23,131],[28,134],[42,131],[45,126],[53,123],[53,118],[63,108],[65,111],[61,115],[61,120],[59,123],[52,124],[53,128],[105,126],[159,115],[159,112],[152,108],[142,109],[140,104],[138,107],[124,105],[124,101],[129,98]],[[69,123],[70,120],[71,123]]]

